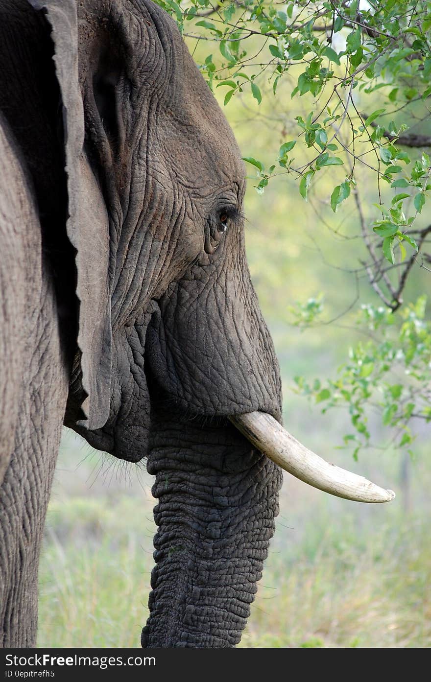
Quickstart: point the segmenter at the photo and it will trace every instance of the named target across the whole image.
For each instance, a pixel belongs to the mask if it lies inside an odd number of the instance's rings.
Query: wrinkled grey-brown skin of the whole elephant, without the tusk
[[[64,419],[155,475],[143,646],[232,647],[281,482],[227,419],[281,400],[235,139],[150,0],[0,0],[0,66],[0,643],[35,643]]]

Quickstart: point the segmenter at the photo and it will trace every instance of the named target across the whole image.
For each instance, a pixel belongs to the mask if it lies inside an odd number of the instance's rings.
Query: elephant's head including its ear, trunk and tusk
[[[147,458],[155,475],[143,645],[230,647],[278,511],[282,472],[262,452],[328,489],[316,462],[301,469],[312,454],[278,432],[280,374],[246,263],[239,149],[151,0],[29,3],[14,6],[44,46],[46,71],[31,77],[49,84],[35,118],[50,121],[50,153],[29,167],[51,241],[67,234],[73,250],[62,253],[74,256],[57,277],[68,282],[57,284],[63,334],[76,342],[65,424],[118,458]]]

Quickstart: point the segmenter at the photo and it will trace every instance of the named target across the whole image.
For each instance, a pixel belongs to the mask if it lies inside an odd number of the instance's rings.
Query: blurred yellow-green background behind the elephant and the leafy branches
[[[243,155],[267,166],[297,132],[288,80],[284,88],[260,107],[244,95],[225,109]],[[248,260],[280,361],[284,424],[318,454],[393,488],[397,497],[386,505],[360,505],[285,474],[276,535],[241,647],[431,644],[429,425],[419,431],[414,460],[389,448],[363,451],[355,462],[351,451],[335,449],[348,415],[323,416],[292,391],[298,374],[313,380],[335,373],[357,339],[351,315],[361,302],[376,303],[368,282],[347,271],[357,267],[363,247],[353,201],[336,215],[330,209],[337,173],[342,181],[338,168],[321,173],[308,203],[285,173],[263,196],[251,179]],[[376,198],[366,175],[361,192],[367,210]],[[418,268],[405,298],[427,286],[429,277]],[[319,294],[322,322],[303,331],[294,327],[289,306]],[[153,567],[151,484],[145,464],[96,453],[65,430],[40,565],[39,647],[138,646]]]

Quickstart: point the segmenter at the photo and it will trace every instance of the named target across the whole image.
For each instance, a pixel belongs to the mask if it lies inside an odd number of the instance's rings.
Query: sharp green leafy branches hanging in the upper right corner
[[[257,168],[258,192],[277,166],[297,175],[307,201],[321,171],[340,166],[330,198],[336,212],[357,184],[356,167],[372,168],[378,198],[372,228],[383,256],[394,265],[419,250],[411,231],[431,189],[431,163],[428,154],[411,158],[402,147],[431,144],[431,138],[406,133],[412,107],[420,121],[428,118],[431,2],[158,3],[186,37],[208,41],[200,69],[211,88],[226,88],[225,105],[244,90],[261,104],[259,84],[267,80],[277,96],[286,78],[293,79],[291,98],[308,100],[308,115],[294,116],[297,140],[282,144],[269,170],[245,158]],[[306,151],[305,163],[297,161],[296,142]],[[385,183],[393,190],[389,194]]]

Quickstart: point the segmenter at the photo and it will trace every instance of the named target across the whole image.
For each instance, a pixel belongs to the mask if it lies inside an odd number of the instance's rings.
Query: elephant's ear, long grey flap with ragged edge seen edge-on
[[[110,322],[109,221],[98,179],[85,153],[85,115],[78,74],[76,0],[29,0],[46,14],[52,29],[54,61],[63,100],[65,171],[68,183],[68,237],[76,250],[79,300],[78,346],[88,430],[102,428],[110,411],[112,329]]]

